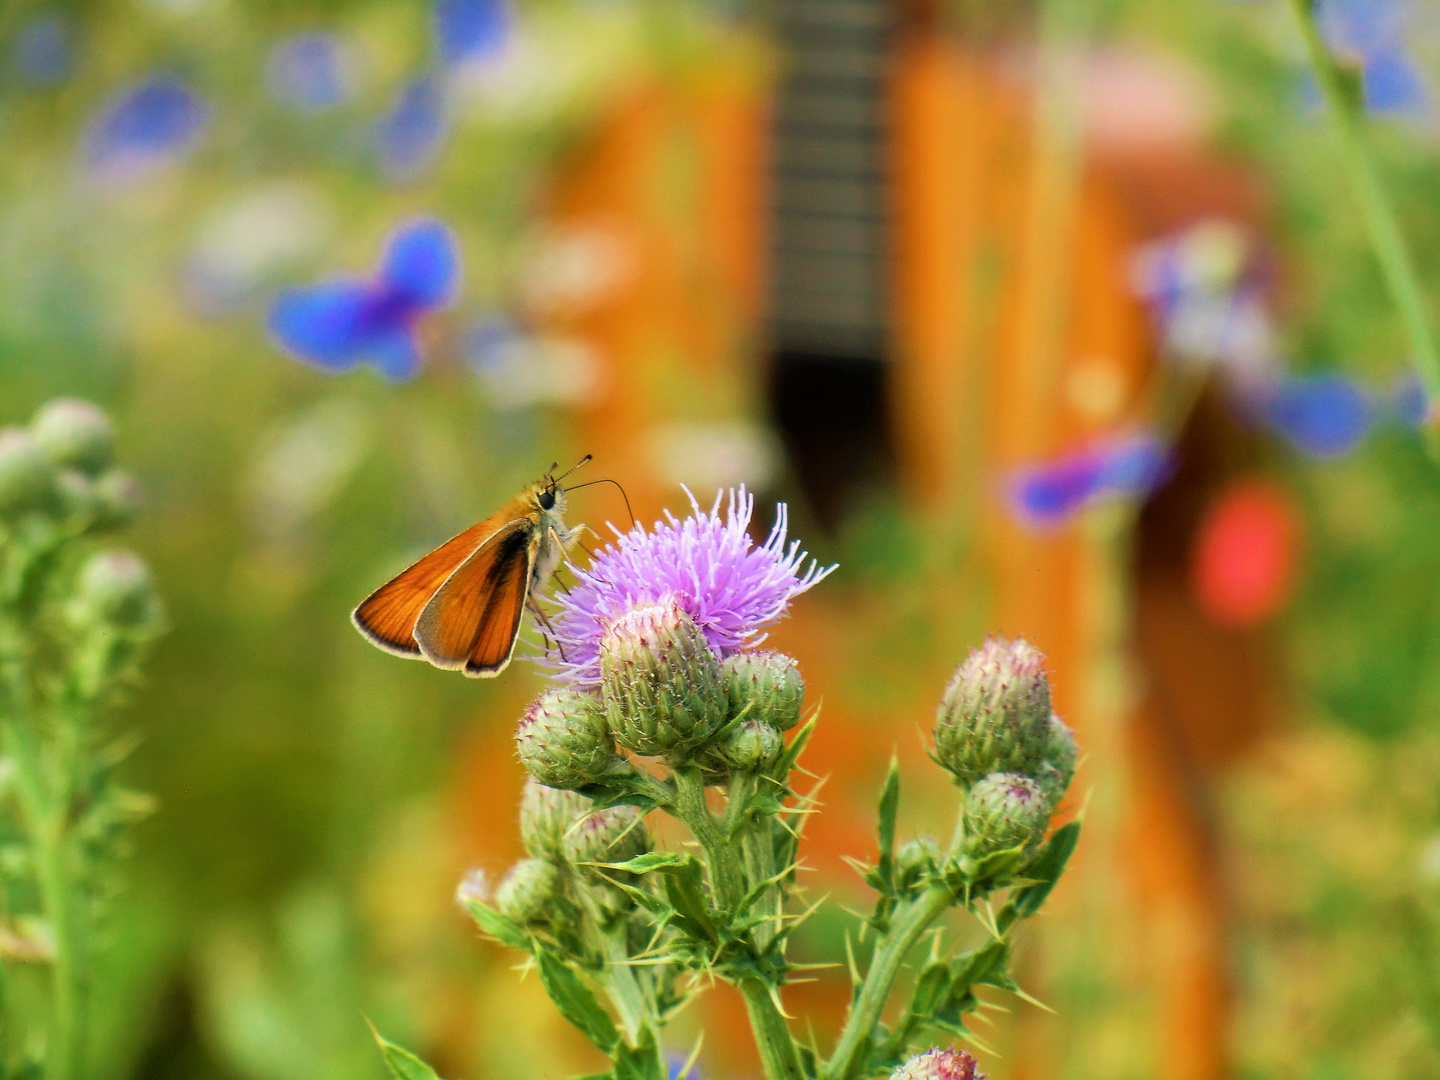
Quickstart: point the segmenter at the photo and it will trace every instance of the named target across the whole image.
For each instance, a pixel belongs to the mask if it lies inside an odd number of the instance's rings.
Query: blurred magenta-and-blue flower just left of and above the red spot
[[[1096,500],[1149,494],[1169,477],[1171,464],[1169,451],[1153,435],[1106,439],[1020,472],[1011,505],[1027,524],[1056,526]]]

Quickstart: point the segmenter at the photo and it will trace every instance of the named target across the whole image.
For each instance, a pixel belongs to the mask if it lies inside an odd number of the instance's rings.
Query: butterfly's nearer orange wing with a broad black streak
[[[415,622],[420,654],[438,668],[498,675],[510,664],[539,549],[530,518],[504,526],[435,590]]]

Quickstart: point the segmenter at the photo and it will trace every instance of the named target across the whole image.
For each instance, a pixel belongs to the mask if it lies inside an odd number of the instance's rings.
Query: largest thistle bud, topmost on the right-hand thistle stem
[[[960,783],[992,772],[1031,773],[1050,739],[1044,657],[1025,641],[989,638],[945,688],[935,756]]]

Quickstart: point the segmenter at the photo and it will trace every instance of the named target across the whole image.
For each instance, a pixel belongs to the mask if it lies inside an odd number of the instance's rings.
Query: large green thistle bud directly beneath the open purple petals
[[[615,740],[645,756],[704,746],[729,711],[720,661],[672,596],[609,625],[600,690]]]

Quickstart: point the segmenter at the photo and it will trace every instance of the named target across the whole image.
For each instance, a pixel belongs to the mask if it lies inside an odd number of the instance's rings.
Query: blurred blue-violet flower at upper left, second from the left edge
[[[173,75],[151,75],[114,94],[85,131],[85,164],[111,181],[137,179],[190,150],[210,108]]]

